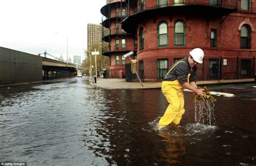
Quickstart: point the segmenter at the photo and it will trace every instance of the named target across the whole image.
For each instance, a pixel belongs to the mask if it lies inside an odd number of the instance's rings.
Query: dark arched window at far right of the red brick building
[[[251,49],[251,27],[247,24],[241,27],[240,48]]]

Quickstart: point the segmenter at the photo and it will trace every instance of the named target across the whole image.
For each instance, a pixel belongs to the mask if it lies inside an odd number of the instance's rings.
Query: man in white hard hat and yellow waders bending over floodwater
[[[179,125],[180,119],[185,113],[184,88],[192,90],[197,95],[204,95],[203,89],[197,89],[196,84],[197,64],[203,63],[203,59],[203,50],[194,48],[191,50],[190,56],[173,64],[170,71],[166,74],[161,90],[169,102],[169,106],[164,116],[159,120],[159,128],[166,127],[171,123]]]

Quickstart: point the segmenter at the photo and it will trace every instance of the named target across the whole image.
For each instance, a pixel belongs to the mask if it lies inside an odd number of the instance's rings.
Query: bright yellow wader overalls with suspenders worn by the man
[[[166,76],[171,72],[171,70],[177,66],[179,63],[186,63],[185,61],[179,61],[177,62],[170,71],[166,74]],[[187,75],[187,82],[189,82],[191,74]],[[164,96],[166,97],[167,101],[169,102],[169,106],[167,107],[164,116],[161,117],[159,120],[159,126],[165,127],[171,122],[175,125],[178,125],[180,123],[181,117],[185,113],[184,109],[184,95],[183,90],[184,87],[181,85],[177,80],[174,81],[163,81],[161,90],[164,93]]]

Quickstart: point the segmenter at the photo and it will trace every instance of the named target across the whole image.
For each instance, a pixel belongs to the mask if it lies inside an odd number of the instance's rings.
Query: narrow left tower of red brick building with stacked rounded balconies
[[[127,3],[121,1],[107,1],[107,4],[100,10],[104,16],[102,25],[106,27],[103,31],[102,53],[110,57],[109,77],[125,77],[125,64],[130,63],[122,55],[133,50],[136,58],[137,37],[135,33],[127,33],[122,29],[122,20],[127,17]]]

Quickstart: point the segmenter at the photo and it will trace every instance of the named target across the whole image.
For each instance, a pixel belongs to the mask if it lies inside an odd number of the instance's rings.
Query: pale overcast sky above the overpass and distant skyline
[[[106,0],[0,0],[0,46],[30,54],[84,58],[87,24],[100,24]],[[68,40],[67,40],[68,37]]]

